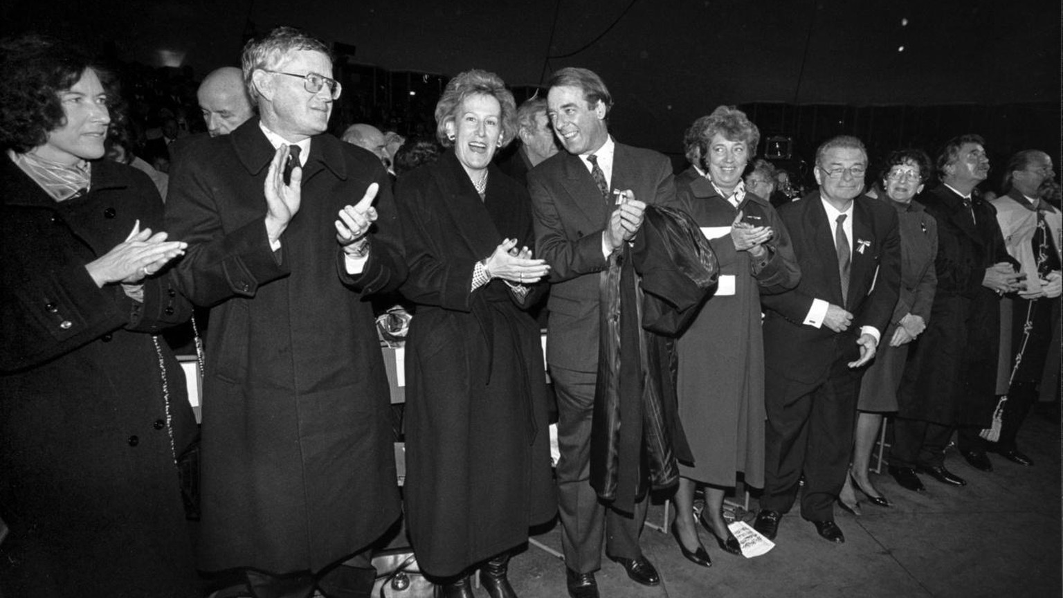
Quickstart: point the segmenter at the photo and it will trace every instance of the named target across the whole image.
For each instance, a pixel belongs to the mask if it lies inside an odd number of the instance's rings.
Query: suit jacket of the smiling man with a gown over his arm
[[[631,189],[635,199],[646,203],[672,202],[672,165],[661,153],[618,143],[612,188]],[[598,272],[606,268],[602,232],[613,205],[604,200],[580,159],[564,151],[528,172],[528,192],[536,254],[551,266],[546,363],[593,372],[598,360]]]

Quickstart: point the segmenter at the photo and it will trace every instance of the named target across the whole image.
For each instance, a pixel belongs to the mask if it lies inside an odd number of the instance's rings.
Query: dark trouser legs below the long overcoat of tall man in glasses
[[[369,598],[376,571],[366,550],[317,575],[304,571],[274,576],[251,569],[246,575],[255,598],[310,598],[315,589],[327,598]]]

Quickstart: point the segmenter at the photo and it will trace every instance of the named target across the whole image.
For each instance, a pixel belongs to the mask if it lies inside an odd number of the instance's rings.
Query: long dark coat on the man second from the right
[[[938,289],[927,329],[909,350],[898,414],[986,428],[997,402],[1000,308],[999,297],[982,286],[982,278],[993,264],[1015,262],[989,202],[975,201],[972,226],[962,198],[945,185],[916,199],[938,220]]]

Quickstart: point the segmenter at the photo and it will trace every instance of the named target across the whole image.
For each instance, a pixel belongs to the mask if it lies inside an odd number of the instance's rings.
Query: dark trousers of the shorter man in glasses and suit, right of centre
[[[822,384],[786,380],[769,372],[764,447],[763,509],[787,513],[805,474],[800,514],[808,520],[834,518],[834,499],[848,475],[860,376],[845,360],[831,366]]]

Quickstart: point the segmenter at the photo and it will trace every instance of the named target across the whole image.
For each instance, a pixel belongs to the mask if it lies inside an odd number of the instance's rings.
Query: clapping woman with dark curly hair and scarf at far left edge
[[[0,41],[0,544],[3,596],[198,596],[176,461],[195,434],[163,328],[148,178],[99,160],[103,71],[63,43]]]

